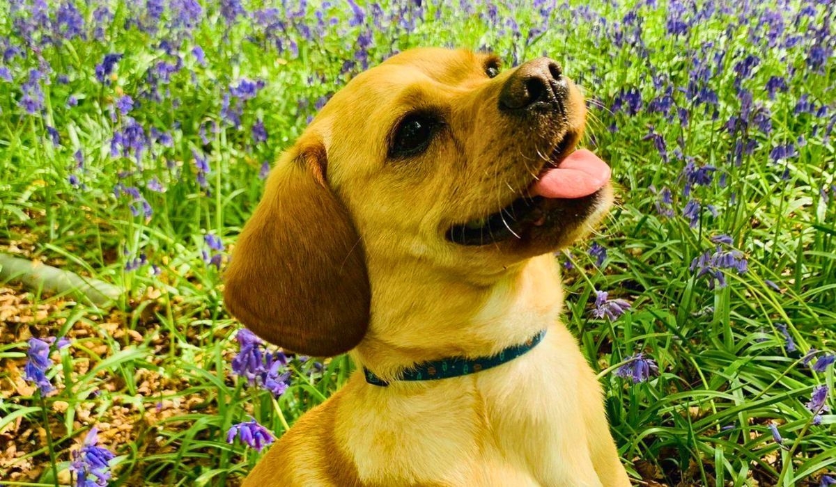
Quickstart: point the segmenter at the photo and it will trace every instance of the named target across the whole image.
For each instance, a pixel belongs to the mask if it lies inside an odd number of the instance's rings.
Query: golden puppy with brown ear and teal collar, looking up
[[[611,204],[557,63],[415,49],[354,78],[283,155],[227,307],[358,371],[245,485],[630,485],[559,322],[552,252]],[[542,338],[542,340],[541,340]],[[440,378],[445,377],[445,378]]]

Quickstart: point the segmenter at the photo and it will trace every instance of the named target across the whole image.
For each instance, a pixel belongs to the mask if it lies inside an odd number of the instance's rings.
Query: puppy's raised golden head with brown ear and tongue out
[[[612,200],[609,167],[575,150],[585,114],[548,58],[503,71],[425,48],[359,74],[273,169],[227,307],[270,342],[333,355],[364,337],[370,274],[430,267],[484,287],[568,246]]]

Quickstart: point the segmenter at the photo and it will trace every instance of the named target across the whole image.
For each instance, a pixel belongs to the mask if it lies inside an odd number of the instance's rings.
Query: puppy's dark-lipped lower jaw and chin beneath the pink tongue
[[[485,219],[451,226],[445,237],[458,246],[535,256],[569,246],[589,233],[612,201],[609,183],[580,198],[521,196]]]

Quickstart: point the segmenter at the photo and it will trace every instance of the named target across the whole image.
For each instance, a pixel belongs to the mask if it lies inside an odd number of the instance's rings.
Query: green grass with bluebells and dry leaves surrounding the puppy
[[[227,444],[232,424],[252,416],[281,434],[339,388],[347,358],[324,361],[321,370],[314,360],[293,361],[290,388],[278,398],[237,378],[230,361],[238,324],[223,310],[221,273],[201,252],[227,261],[261,195],[263,163],[293,143],[319,100],[364,60],[374,65],[421,45],[491,48],[507,65],[548,53],[589,97],[586,145],[612,165],[619,205],[594,237],[607,249],[600,266],[590,242],[558,258],[573,264],[565,273],[565,321],[601,371],[630,474],[669,485],[790,486],[818,484],[836,471],[836,416],[824,413],[813,424],[804,407],[813,387],[832,390],[833,366],[816,373],[802,363],[811,347],[836,348],[836,16],[828,5],[763,1],[723,10],[712,0],[593,0],[540,9],[521,2],[502,3],[494,20],[487,3],[468,3],[467,13],[458,3],[417,9],[401,2],[385,3],[383,13],[363,4],[358,22],[348,6],[315,3],[297,12],[273,5],[282,30],[252,14],[270,7],[262,2],[244,2],[247,13],[234,21],[206,2],[193,25],[178,27],[174,21],[185,16],[171,9],[155,20],[145,3],[99,0],[76,5],[81,38],[67,34],[71,23],[59,21],[58,3],[48,4],[51,28],[36,8],[0,2],[7,53],[0,68],[13,78],[0,71],[0,251],[110,282],[124,295],[113,309],[97,309],[14,284],[0,292],[0,438],[19,453],[0,452],[4,484],[69,484],[70,451],[95,425],[117,454],[115,484],[232,484],[258,458],[239,442]],[[102,6],[112,22],[97,21]],[[688,27],[674,35],[678,18]],[[26,25],[35,26],[31,33]],[[358,47],[361,34],[367,48]],[[205,64],[192,53],[196,46]],[[819,48],[830,57],[818,62]],[[107,53],[124,58],[102,83],[95,67]],[[749,70],[742,65],[748,55],[757,57]],[[160,74],[159,63],[173,72]],[[24,95],[38,98],[23,86],[33,68],[45,73],[37,83],[43,107],[28,114]],[[774,98],[766,88],[772,77],[787,87]],[[241,79],[266,84],[241,102],[236,127],[225,122],[222,100]],[[630,91],[640,94],[634,109]],[[665,93],[670,116],[650,109]],[[749,108],[744,93],[752,94]],[[134,99],[130,117],[145,134],[166,132],[171,144],[153,143],[138,159],[111,155],[114,134],[132,124],[114,108],[123,94]],[[77,106],[68,106],[71,97]],[[797,109],[805,99],[813,109]],[[742,114],[747,124],[728,129]],[[252,139],[257,120],[268,132],[264,142]],[[58,144],[48,126],[58,130]],[[668,161],[651,133],[665,141]],[[749,145],[739,158],[738,144]],[[775,160],[773,150],[788,144],[795,154]],[[205,186],[193,151],[206,157]],[[716,170],[686,195],[688,160]],[[141,198],[115,195],[117,187],[135,188]],[[670,214],[657,208],[663,188]],[[693,225],[683,216],[690,200],[702,206]],[[722,234],[732,245],[711,241]],[[207,235],[226,248],[210,249]],[[721,271],[726,287],[691,270],[717,246],[741,252],[748,265],[743,273]],[[632,310],[614,322],[590,317],[594,290],[627,299]],[[43,398],[48,422],[39,394],[23,380],[30,336],[71,339],[52,355],[48,377],[58,390]],[[637,384],[615,377],[615,366],[640,351],[660,375]],[[771,422],[783,446],[772,439]]]

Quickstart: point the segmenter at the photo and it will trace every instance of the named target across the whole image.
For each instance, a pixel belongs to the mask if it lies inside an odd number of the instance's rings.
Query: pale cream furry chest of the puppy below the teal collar
[[[585,446],[579,451],[586,439],[578,383],[589,379],[568,332],[547,336],[498,368],[364,401],[373,405],[357,412],[347,444],[360,478],[371,482],[560,484],[566,474],[555,465],[588,456]]]

